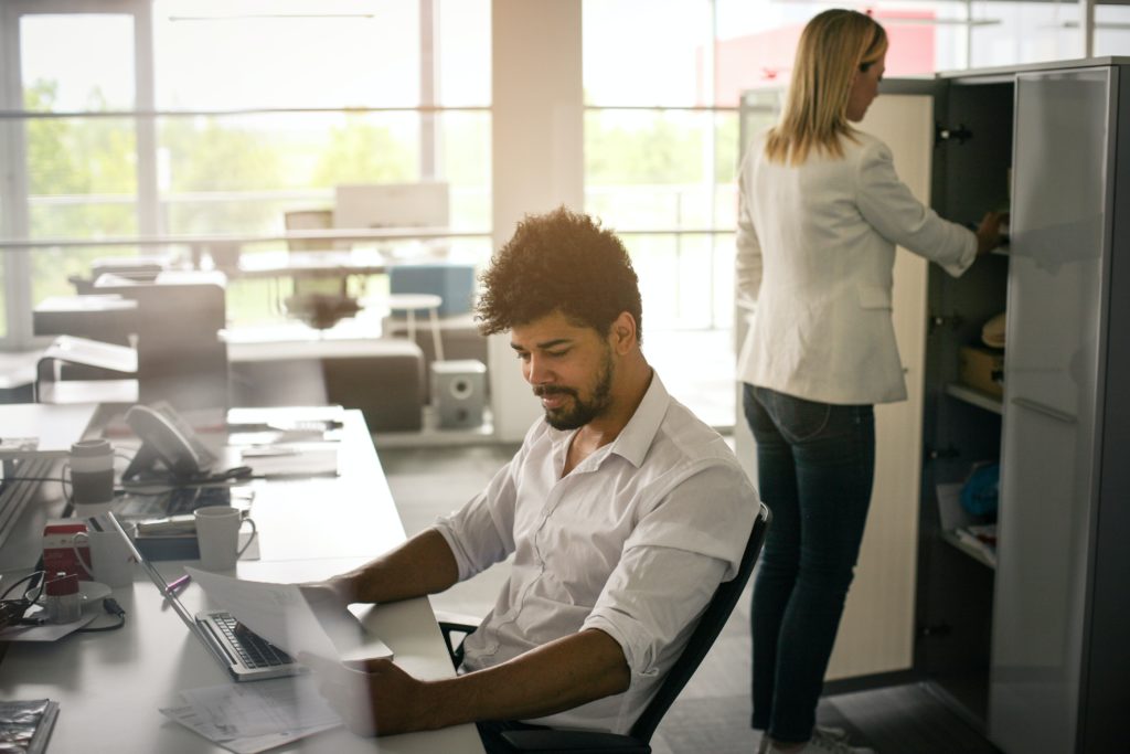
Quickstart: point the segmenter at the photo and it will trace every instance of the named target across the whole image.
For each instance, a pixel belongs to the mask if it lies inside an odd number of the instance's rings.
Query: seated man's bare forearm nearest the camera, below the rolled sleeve
[[[631,679],[620,645],[591,629],[496,667],[426,684],[426,713],[434,717],[421,727],[539,718],[624,692]]]

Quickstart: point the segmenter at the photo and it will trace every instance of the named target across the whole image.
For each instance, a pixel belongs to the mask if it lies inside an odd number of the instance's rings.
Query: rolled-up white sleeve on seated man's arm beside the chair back
[[[583,629],[616,640],[635,676],[681,651],[719,583],[741,563],[757,495],[740,469],[710,467],[667,493],[625,543]]]

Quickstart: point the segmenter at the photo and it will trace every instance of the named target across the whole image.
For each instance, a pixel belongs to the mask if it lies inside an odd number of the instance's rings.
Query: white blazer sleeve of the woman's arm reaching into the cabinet
[[[885,239],[938,262],[954,277],[973,263],[976,235],[920,202],[895,174],[886,145],[876,141],[863,149],[857,177],[860,213]]]

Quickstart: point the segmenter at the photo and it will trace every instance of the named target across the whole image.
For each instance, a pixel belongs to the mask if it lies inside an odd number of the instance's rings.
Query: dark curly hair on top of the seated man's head
[[[528,324],[555,311],[608,335],[620,312],[643,340],[640,281],[616,234],[564,207],[527,215],[479,280],[476,320],[484,335]]]

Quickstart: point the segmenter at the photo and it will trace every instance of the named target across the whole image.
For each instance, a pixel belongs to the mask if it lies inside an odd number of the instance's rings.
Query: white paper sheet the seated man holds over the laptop
[[[191,566],[184,571],[236,621],[290,657],[310,652],[330,660],[392,658],[392,650],[366,635],[345,607],[320,607],[315,615],[296,584],[244,581]]]

